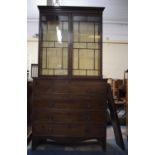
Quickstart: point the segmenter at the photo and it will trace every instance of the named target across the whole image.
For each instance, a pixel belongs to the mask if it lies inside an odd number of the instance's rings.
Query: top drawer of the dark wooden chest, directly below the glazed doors
[[[107,85],[100,80],[34,80],[34,94],[72,93],[100,94],[107,91]]]

